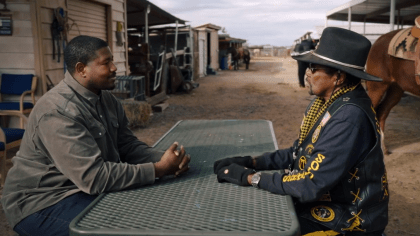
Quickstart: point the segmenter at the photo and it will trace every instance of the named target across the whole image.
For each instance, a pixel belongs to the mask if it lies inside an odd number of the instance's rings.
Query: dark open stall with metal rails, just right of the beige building
[[[127,25],[130,75],[144,76],[146,100],[158,104],[179,86],[190,91],[192,31],[185,21],[149,1],[127,0]]]

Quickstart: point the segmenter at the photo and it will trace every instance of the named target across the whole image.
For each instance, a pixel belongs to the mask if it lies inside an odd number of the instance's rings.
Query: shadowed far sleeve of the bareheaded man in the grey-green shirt
[[[115,102],[117,103],[118,119],[121,124],[118,130],[117,141],[118,151],[122,161],[129,164],[155,163],[160,161],[164,151],[153,149],[134,136],[133,132],[128,128],[128,119],[125,115],[124,108],[119,101]]]

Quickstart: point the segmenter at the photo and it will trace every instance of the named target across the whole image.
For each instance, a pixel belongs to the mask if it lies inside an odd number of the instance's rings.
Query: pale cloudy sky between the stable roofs
[[[212,23],[249,45],[291,46],[315,26],[324,26],[326,13],[350,0],[149,0],[193,27]],[[328,21],[328,25],[348,25]],[[219,31],[219,34],[221,31]]]

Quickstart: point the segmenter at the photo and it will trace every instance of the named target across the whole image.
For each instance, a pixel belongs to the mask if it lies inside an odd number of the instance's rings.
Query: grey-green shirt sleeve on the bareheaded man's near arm
[[[57,168],[88,194],[118,191],[155,180],[152,163],[131,165],[104,161],[95,137],[86,126],[57,110],[40,119],[32,140],[38,152],[50,160],[50,168]]]

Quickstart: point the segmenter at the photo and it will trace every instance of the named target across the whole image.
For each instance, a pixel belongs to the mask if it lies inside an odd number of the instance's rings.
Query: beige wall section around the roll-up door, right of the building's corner
[[[52,36],[50,25],[53,21],[53,11],[57,7],[63,8],[68,14],[70,30],[67,39],[70,41],[78,35],[89,35],[104,39],[110,45],[114,54],[114,62],[118,75],[126,75],[127,55],[125,45],[126,16],[124,0],[41,0],[37,2],[38,28],[41,33],[40,54],[42,60],[41,74],[44,81],[46,75],[54,84],[58,84],[64,75],[64,59],[61,54],[60,62],[52,58]],[[122,22],[122,46],[117,46],[117,22]],[[61,46],[61,51],[63,47]],[[63,52],[63,51],[62,51]],[[46,86],[44,85],[44,93]]]

